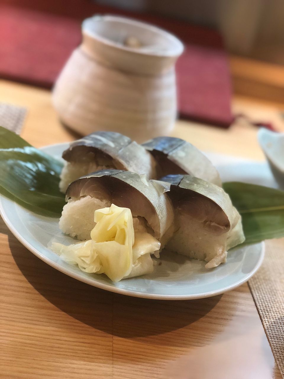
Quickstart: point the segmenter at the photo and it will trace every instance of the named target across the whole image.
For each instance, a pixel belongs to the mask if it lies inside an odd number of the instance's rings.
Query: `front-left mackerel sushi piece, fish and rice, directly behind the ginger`
[[[94,211],[110,207],[129,208],[134,230],[144,230],[161,243],[173,232],[173,207],[167,196],[169,183],[148,180],[130,171],[103,170],[81,177],[69,185],[59,227],[79,240],[88,240],[95,226]]]

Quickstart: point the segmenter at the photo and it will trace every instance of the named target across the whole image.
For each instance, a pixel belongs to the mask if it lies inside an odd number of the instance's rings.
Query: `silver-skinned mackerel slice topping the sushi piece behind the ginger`
[[[169,189],[168,183],[149,180],[146,175],[122,170],[101,170],[71,183],[66,191],[66,200],[91,196],[130,208],[133,216],[145,218],[154,236],[162,244],[170,238],[174,222],[172,202],[166,194]]]

